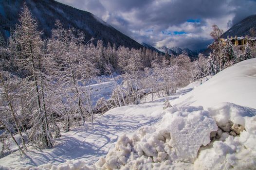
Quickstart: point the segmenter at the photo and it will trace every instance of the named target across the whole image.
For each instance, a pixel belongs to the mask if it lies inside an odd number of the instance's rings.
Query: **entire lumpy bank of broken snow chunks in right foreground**
[[[94,168],[254,169],[255,115],[256,109],[234,103],[221,103],[209,110],[201,106],[172,107],[160,124],[143,127],[130,137],[121,136]],[[230,126],[225,126],[229,122]],[[234,125],[243,128],[237,131]]]

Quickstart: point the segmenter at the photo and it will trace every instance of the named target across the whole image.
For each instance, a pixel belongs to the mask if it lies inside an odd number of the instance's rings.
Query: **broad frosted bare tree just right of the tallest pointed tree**
[[[56,85],[65,91],[69,107],[74,109],[73,113],[79,114],[86,126],[90,117],[93,122],[93,114],[90,88],[83,86],[93,75],[98,74],[98,69],[94,68],[91,59],[86,55],[84,35],[77,32],[76,37],[75,30],[64,29],[59,21],[56,21],[55,26],[48,43],[48,51],[58,61],[55,68]]]

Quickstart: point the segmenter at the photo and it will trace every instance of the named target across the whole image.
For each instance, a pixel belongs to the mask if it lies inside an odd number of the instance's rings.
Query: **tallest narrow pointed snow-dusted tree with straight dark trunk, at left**
[[[34,108],[33,128],[35,137],[41,142],[43,148],[52,147],[52,135],[48,124],[48,111],[45,96],[46,77],[43,70],[45,65],[44,42],[40,38],[42,32],[37,31],[37,21],[32,17],[28,7],[24,9],[19,18],[20,24],[13,33],[13,46],[15,48],[15,62],[26,78],[23,79],[24,88],[30,98],[27,98],[28,107]],[[34,103],[37,101],[37,103]],[[36,106],[36,107],[35,107]]]

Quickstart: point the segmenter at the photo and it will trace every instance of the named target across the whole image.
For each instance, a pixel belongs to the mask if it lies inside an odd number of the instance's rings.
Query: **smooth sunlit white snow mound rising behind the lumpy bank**
[[[212,107],[221,102],[256,108],[256,58],[226,68],[211,79],[172,101],[171,105]]]

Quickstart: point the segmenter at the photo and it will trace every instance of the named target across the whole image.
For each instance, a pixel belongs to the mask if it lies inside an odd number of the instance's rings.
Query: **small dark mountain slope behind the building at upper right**
[[[256,15],[246,17],[242,21],[233,25],[228,31],[226,31],[220,37],[227,38],[228,35],[233,37],[235,37],[236,35],[238,36],[250,35],[250,29],[253,27],[256,29]]]

